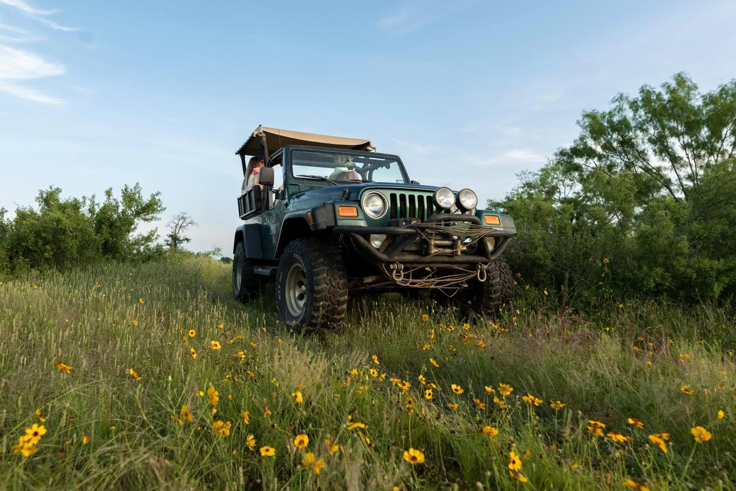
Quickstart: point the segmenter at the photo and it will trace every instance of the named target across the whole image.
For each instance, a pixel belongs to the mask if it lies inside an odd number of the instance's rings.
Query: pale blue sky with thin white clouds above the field
[[[736,77],[734,1],[0,0],[0,207],[124,183],[230,252],[263,124],[370,139],[422,183],[503,197],[584,109]]]

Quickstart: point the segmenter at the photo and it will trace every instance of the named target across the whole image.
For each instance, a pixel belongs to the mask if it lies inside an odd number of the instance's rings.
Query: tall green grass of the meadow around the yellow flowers
[[[732,488],[736,339],[726,307],[619,308],[601,295],[590,314],[561,313],[520,289],[502,318],[470,319],[466,330],[453,311],[383,295],[354,300],[339,333],[294,337],[276,321],[271,290],[240,305],[229,266],[208,259],[0,280],[0,488],[588,490],[624,489],[627,478],[652,490]],[[212,340],[222,349],[211,350]],[[419,375],[437,386],[430,400]],[[392,377],[411,384],[406,394]],[[503,410],[485,389],[498,396],[499,383],[514,387]],[[219,392],[214,415],[197,395],[210,386]],[[531,406],[527,392],[544,402]],[[183,404],[194,423],[173,419]],[[11,448],[40,423],[36,409],[47,433],[26,458]],[[351,417],[367,428],[349,430]],[[604,437],[587,431],[593,418]],[[227,437],[214,433],[216,420],[232,423]],[[498,435],[486,437],[486,425]],[[712,439],[696,443],[696,425]],[[632,439],[617,444],[605,436],[612,430]],[[649,442],[657,431],[670,434],[668,453]],[[294,448],[297,434],[308,435],[307,448]],[[339,445],[334,455],[327,438]],[[275,456],[261,456],[263,445]],[[408,448],[425,462],[405,462]],[[306,451],[325,459],[319,476],[302,466]],[[520,470],[528,483],[509,477],[510,451],[529,451]]]

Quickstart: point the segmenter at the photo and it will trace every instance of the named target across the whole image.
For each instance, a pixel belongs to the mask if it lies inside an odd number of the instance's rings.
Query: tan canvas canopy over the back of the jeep
[[[311,145],[329,146],[331,148],[350,150],[375,150],[368,140],[358,138],[342,138],[341,136],[315,135],[314,133],[302,133],[300,131],[278,130],[277,128],[266,128],[259,126],[250,135],[250,138],[241,146],[236,155],[258,155],[258,147],[261,144],[261,135],[266,135],[266,145],[269,154],[286,145]]]

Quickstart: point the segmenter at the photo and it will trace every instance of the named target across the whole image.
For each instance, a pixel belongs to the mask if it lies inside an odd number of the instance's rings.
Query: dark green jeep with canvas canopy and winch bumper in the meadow
[[[269,150],[275,150],[269,156]],[[338,328],[348,294],[400,292],[494,314],[514,279],[499,256],[511,216],[478,209],[470,189],[420,186],[401,159],[367,140],[258,127],[238,149],[265,162],[238,197],[233,294],[245,302],[275,280],[293,331]]]

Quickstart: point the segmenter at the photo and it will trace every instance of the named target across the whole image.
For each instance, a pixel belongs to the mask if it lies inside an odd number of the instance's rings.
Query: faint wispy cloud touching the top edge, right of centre
[[[394,34],[406,34],[425,27],[445,15],[462,10],[475,0],[400,0],[399,7],[378,21],[378,27]]]

